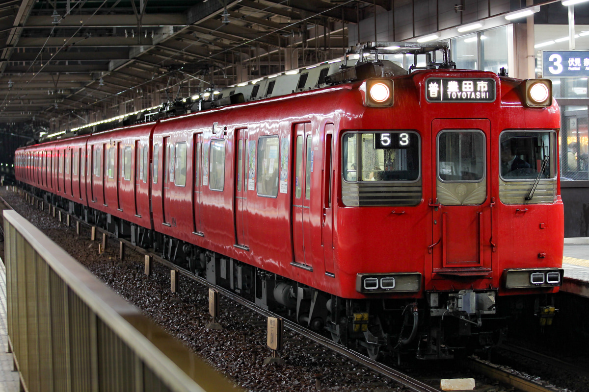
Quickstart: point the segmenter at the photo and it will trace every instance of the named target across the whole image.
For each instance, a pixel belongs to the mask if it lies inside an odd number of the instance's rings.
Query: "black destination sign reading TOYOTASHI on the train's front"
[[[425,98],[428,102],[494,102],[497,88],[492,78],[429,78]]]

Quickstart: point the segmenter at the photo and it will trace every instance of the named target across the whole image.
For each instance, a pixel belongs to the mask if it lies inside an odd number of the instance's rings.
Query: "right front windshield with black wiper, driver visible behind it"
[[[504,180],[552,179],[556,176],[555,133],[506,131],[499,140]]]

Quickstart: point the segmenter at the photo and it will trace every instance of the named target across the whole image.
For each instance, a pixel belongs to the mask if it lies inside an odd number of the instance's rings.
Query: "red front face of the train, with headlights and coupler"
[[[428,59],[363,81],[339,138],[342,294],[372,354],[490,347],[514,320],[550,324],[562,282],[550,81]]]

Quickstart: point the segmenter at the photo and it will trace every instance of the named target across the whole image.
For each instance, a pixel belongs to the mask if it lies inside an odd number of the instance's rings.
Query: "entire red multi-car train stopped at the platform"
[[[372,357],[451,357],[514,317],[550,324],[563,246],[550,81],[454,69],[444,43],[378,44],[187,115],[18,149],[16,176]],[[387,59],[399,52],[427,65],[408,73]]]

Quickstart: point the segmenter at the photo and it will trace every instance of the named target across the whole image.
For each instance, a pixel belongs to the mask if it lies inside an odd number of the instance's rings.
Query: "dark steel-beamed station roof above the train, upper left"
[[[146,106],[136,102],[146,96],[164,101],[268,75],[291,56],[303,65],[327,48],[341,55],[348,25],[373,4],[0,0],[0,122],[88,120]]]

